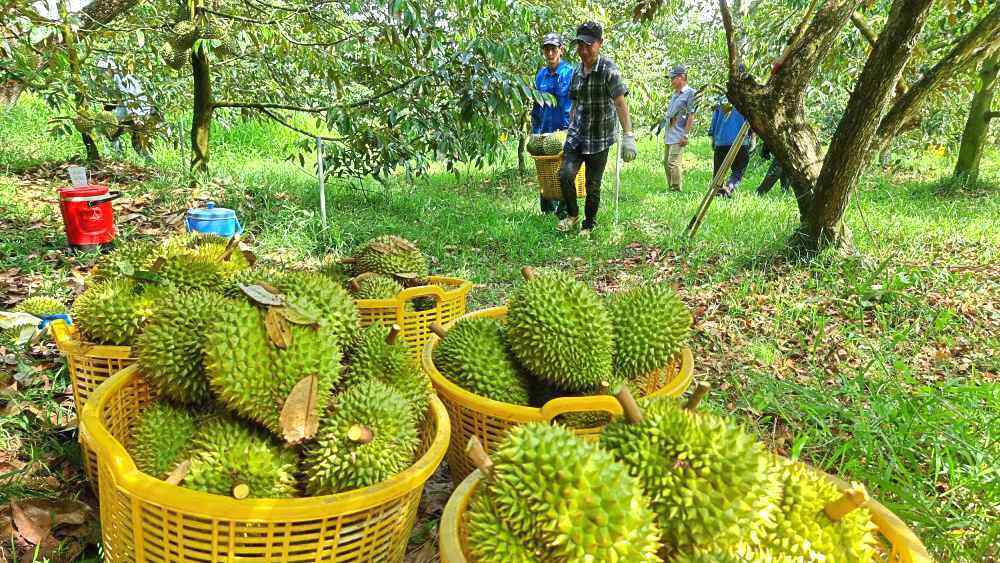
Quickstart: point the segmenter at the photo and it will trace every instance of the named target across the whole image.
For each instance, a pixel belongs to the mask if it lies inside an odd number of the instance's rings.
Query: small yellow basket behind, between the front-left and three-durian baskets
[[[410,356],[420,361],[420,353],[427,339],[432,336],[431,323],[442,325],[465,314],[472,282],[460,278],[431,276],[430,285],[409,287],[392,299],[356,299],[361,326],[375,323],[402,328],[400,337],[406,343]],[[423,311],[407,308],[407,304],[420,297],[432,297],[434,307]]]

